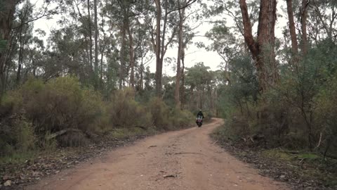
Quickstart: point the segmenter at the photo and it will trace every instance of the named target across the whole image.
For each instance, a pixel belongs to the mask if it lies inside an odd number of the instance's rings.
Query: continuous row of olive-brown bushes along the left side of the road
[[[0,155],[84,146],[120,129],[161,131],[194,124],[188,111],[170,108],[158,98],[140,103],[135,96],[133,89],[124,89],[113,91],[110,101],[105,101],[98,91],[82,87],[76,77],[29,79],[8,91],[1,102]]]

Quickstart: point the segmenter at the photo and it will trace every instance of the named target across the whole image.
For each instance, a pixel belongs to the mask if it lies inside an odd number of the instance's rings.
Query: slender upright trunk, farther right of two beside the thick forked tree
[[[307,17],[308,17],[308,6],[310,1],[302,0],[302,5],[300,7],[300,24],[302,29],[302,53],[306,56],[308,53],[308,39],[307,39]]]

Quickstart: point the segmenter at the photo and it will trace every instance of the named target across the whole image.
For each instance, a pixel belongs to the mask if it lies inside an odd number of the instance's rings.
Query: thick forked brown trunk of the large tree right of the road
[[[244,23],[244,40],[251,51],[256,63],[260,91],[263,93],[267,87],[278,80],[277,65],[275,61],[275,22],[276,0],[260,0],[260,15],[258,18],[258,37],[254,40],[251,21],[245,0],[239,0]]]

